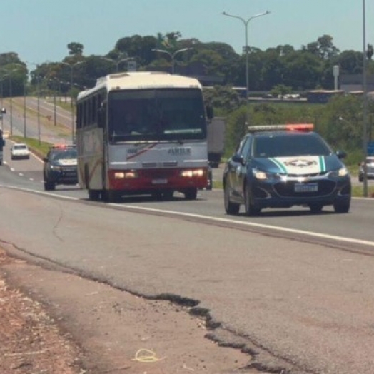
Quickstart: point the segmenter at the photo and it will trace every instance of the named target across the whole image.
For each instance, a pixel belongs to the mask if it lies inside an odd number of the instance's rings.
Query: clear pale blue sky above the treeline
[[[365,17],[363,4],[365,3]],[[61,61],[78,42],[84,55],[106,55],[118,39],[179,31],[182,39],[221,42],[241,53],[290,44],[300,49],[328,34],[344,51],[374,44],[374,0],[1,0],[0,53],[33,64]],[[240,19],[223,16],[226,13]]]

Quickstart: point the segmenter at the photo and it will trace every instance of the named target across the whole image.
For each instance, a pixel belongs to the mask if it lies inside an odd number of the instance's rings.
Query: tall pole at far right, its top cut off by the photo
[[[368,156],[368,84],[366,80],[366,16],[363,0],[363,159]],[[363,196],[368,197],[368,169],[363,163]]]

